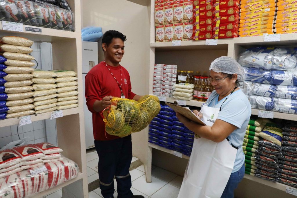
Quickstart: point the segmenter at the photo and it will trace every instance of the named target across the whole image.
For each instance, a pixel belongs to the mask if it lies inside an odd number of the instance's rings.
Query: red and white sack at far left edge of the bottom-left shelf
[[[0,151],[0,169],[18,164],[22,158],[10,149]]]

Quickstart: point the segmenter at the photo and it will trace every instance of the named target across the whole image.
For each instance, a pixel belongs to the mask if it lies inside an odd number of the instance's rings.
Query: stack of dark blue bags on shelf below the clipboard
[[[194,133],[179,122],[176,113],[167,105],[149,125],[149,142],[190,156]]]

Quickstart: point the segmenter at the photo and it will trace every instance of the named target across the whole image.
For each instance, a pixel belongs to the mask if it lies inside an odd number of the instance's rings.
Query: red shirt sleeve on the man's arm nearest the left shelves
[[[93,74],[87,74],[85,77],[85,97],[87,101],[87,107],[89,111],[92,113],[96,113],[93,109],[94,102],[96,100],[102,100],[101,98],[101,87],[100,82],[97,77],[95,77]]]

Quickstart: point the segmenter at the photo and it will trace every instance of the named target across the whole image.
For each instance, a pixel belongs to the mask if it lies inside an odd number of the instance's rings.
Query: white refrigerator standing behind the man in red
[[[82,41],[82,71],[83,71],[83,94],[85,94],[85,77],[89,70],[98,64],[98,43]],[[85,117],[86,149],[95,147],[93,136],[92,113],[86,105],[86,98],[83,97],[83,113]]]

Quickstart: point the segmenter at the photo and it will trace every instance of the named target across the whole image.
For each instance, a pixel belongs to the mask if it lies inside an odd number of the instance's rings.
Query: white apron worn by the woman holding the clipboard
[[[212,126],[220,108],[204,105],[203,122]],[[237,149],[227,139],[213,142],[195,138],[178,198],[219,198],[233,170]]]

